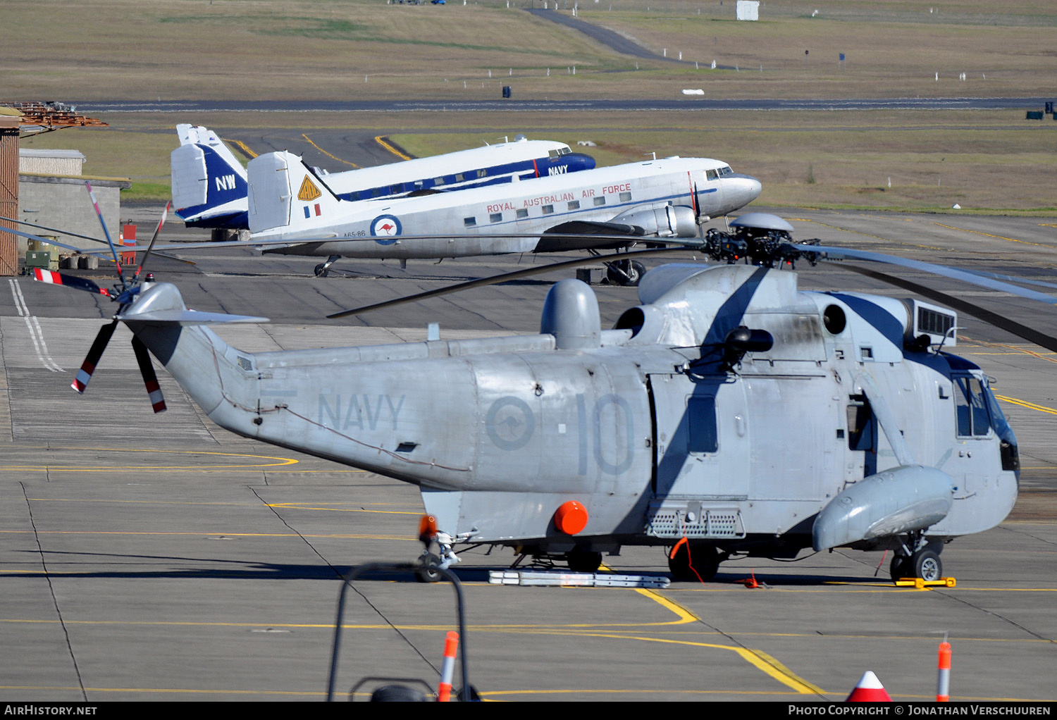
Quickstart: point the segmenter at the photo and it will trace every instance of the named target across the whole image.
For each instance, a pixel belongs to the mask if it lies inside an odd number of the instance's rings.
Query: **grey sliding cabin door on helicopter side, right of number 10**
[[[647,533],[656,537],[744,535],[748,423],[742,383],[725,376],[649,375],[653,497]]]

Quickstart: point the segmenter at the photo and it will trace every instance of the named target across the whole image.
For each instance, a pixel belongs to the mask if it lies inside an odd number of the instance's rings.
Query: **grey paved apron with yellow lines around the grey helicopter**
[[[152,209],[135,213],[153,222]],[[781,215],[797,239],[1051,279],[1057,266],[1057,219]],[[197,235],[169,229],[163,239]],[[407,270],[341,261],[331,277],[315,278],[314,258],[245,250],[194,258],[194,266],[152,260],[151,269],[197,310],[270,316],[270,325],[221,332],[251,351],[423,339],[429,321],[440,322],[445,338],[538,332],[555,279],[335,322],[323,316],[546,259],[411,262]],[[803,289],[906,295],[839,265],[800,275]],[[415,488],[239,439],[212,425],[164,371],[169,409],[153,416],[124,328],[79,396],[70,382],[112,306],[24,277],[5,284],[0,698],[321,700],[339,577],[368,561],[418,555]],[[1057,333],[1052,308],[934,284]],[[604,327],[637,303],[634,289],[596,292]],[[894,699],[929,700],[937,645],[947,636],[952,700],[1053,701],[1057,356],[971,318],[960,317],[960,326],[954,352],[981,365],[1008,399],[1002,407],[1024,470],[1010,517],[944,551],[956,587],[894,588],[887,564],[877,569],[879,553],[851,551],[730,561],[716,583],[659,591],[502,587],[488,585],[485,573],[506,567],[511,553],[467,552],[457,572],[472,684],[493,701],[842,700],[872,669]],[[626,548],[606,564],[623,573],[667,572],[661,549]],[[750,575],[763,587],[746,589],[741,580]],[[357,590],[346,617],[342,694],[365,676],[435,685],[444,631],[455,622],[450,588],[407,575],[368,579]]]

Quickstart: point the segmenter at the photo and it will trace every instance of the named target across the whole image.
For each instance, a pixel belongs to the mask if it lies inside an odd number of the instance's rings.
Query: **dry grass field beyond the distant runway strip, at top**
[[[1052,88],[1057,59],[1053,2],[771,0],[759,22],[736,21],[735,0],[579,3],[581,19],[700,70],[616,55],[519,8],[530,4],[0,0],[4,44],[17,49],[4,60],[3,92],[478,99],[511,84],[522,98],[670,97],[699,87],[720,97],[1008,96]],[[738,70],[707,69],[712,60]]]

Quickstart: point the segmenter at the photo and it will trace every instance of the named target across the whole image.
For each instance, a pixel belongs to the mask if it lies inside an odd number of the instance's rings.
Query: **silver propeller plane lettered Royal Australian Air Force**
[[[248,165],[252,243],[265,253],[345,258],[457,258],[630,248],[647,238],[697,242],[699,223],[760,195],[760,181],[718,160],[666,158],[453,193],[342,202],[300,158],[272,152]],[[597,237],[599,234],[605,237]],[[431,237],[426,237],[431,236]],[[622,236],[616,238],[614,236]],[[636,284],[637,260],[609,263]]]

